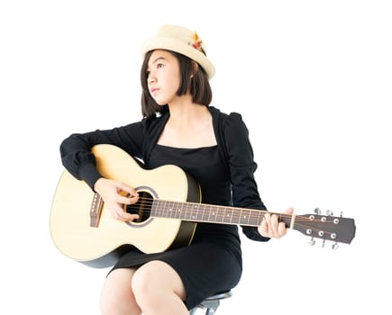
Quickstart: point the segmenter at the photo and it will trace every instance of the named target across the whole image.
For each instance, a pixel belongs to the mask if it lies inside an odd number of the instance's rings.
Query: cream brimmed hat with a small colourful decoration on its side
[[[201,40],[196,31],[190,31],[177,25],[165,24],[160,27],[157,35],[146,40],[141,45],[141,55],[153,49],[168,49],[195,60],[205,69],[208,78],[215,74],[213,63],[206,57],[205,42]]]

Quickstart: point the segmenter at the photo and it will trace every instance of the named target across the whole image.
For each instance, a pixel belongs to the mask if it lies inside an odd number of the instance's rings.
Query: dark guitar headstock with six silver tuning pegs
[[[331,211],[321,214],[316,208],[315,213],[296,215],[293,229],[311,238],[310,244],[315,244],[315,238],[333,241],[333,248],[336,249],[337,243],[350,244],[355,236],[355,222],[353,219],[343,218],[342,215],[334,217]]]

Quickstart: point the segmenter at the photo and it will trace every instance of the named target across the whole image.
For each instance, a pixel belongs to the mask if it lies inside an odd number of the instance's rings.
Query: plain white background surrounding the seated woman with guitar
[[[386,314],[391,282],[392,10],[387,1],[2,1],[1,303],[4,314],[98,314],[107,269],[64,257],[49,215],[71,132],[141,118],[141,42],[196,29],[214,106],[241,112],[269,211],[354,218],[333,251],[243,238],[219,314]],[[5,311],[7,310],[7,311]]]

